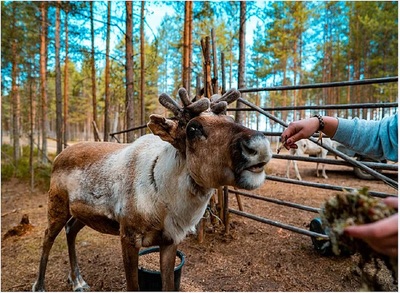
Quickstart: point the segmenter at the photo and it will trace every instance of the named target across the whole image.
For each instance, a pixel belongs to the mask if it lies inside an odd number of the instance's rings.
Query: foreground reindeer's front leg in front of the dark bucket
[[[163,291],[175,291],[174,268],[177,245],[160,246],[160,267]]]

